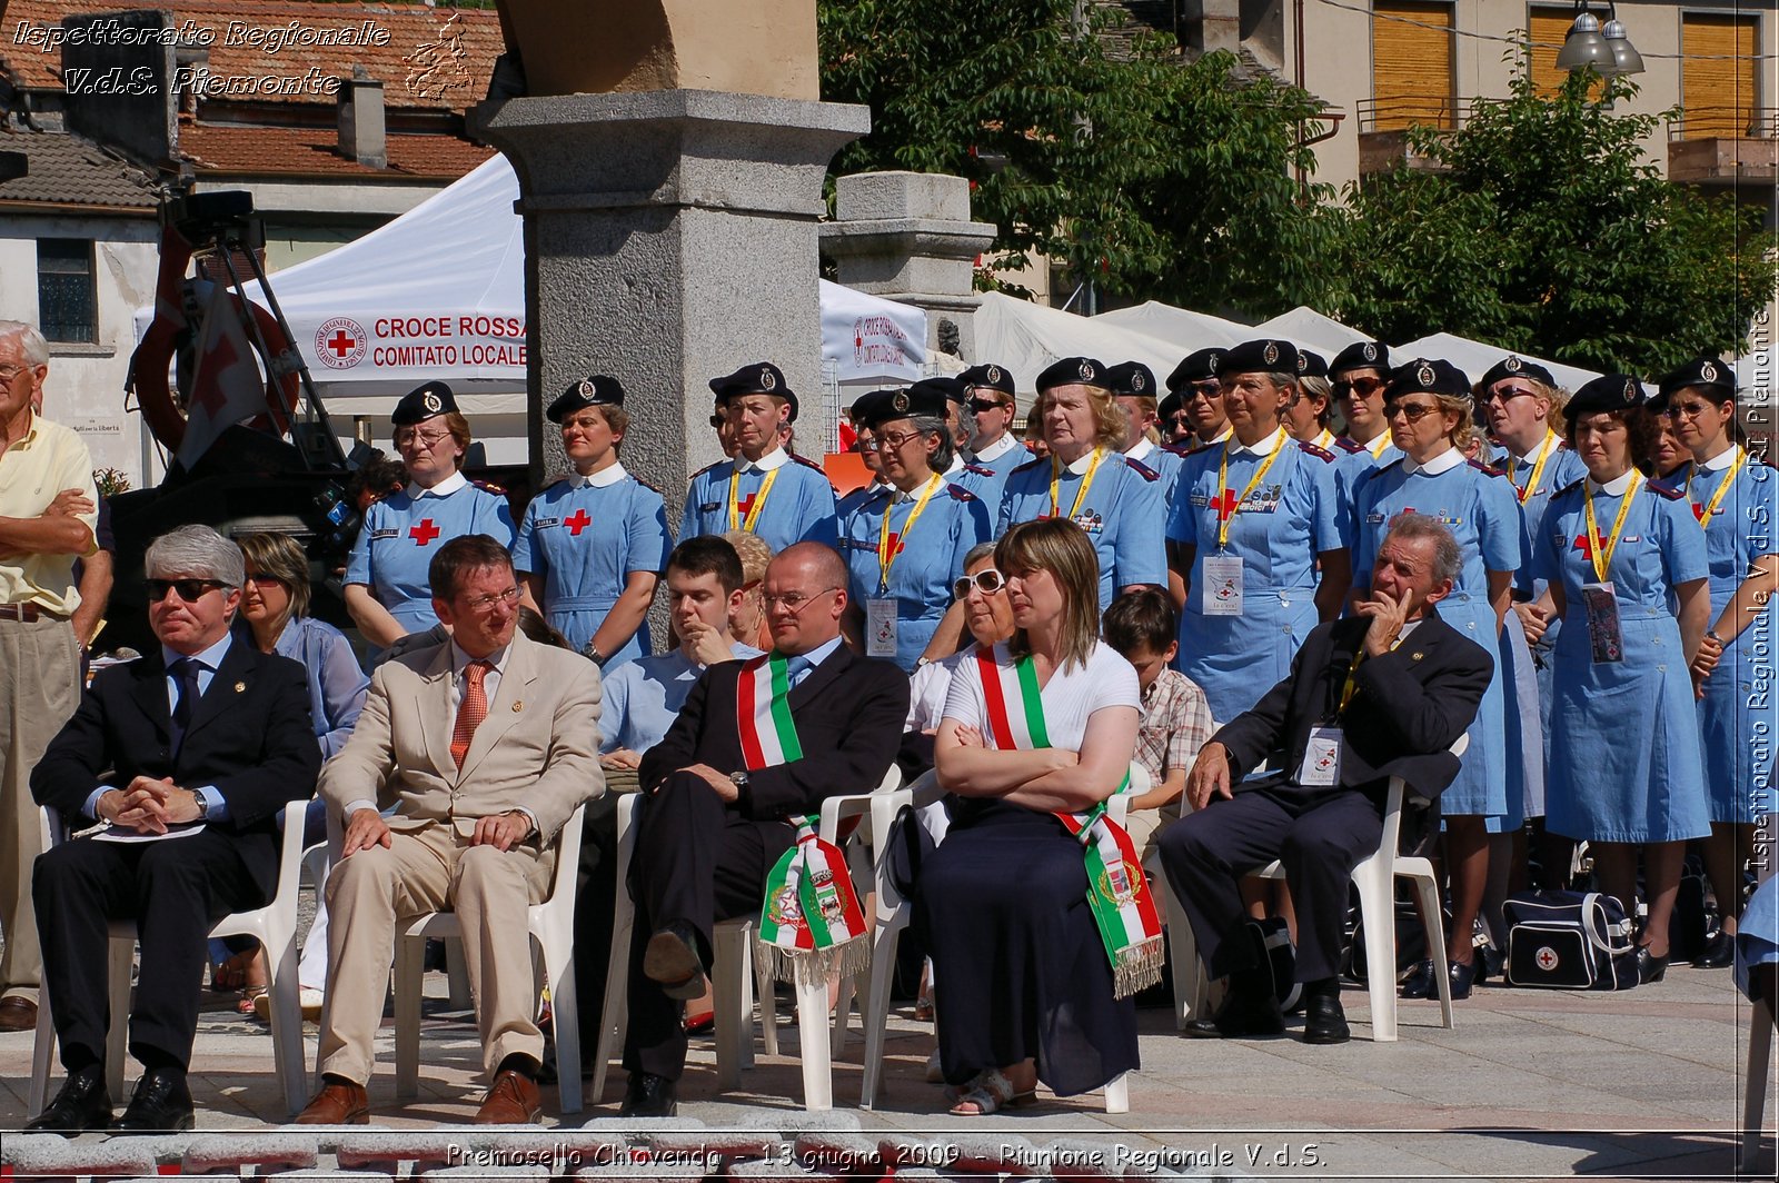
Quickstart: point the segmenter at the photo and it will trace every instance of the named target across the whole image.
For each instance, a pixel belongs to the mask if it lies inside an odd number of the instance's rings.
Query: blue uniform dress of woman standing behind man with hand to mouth
[[[1464,459],[1457,448],[1441,452],[1425,468],[1407,459],[1379,468],[1359,482],[1356,537],[1352,548],[1352,583],[1372,585],[1372,564],[1389,532],[1389,521],[1404,511],[1437,518],[1457,537],[1464,567],[1452,594],[1439,601],[1439,617],[1459,630],[1489,656],[1500,655],[1500,628],[1489,607],[1489,571],[1517,571],[1525,566],[1526,537],[1519,502],[1505,477]],[[1509,765],[1517,754],[1507,751],[1500,660],[1489,676],[1477,720],[1469,726],[1469,749],[1452,786],[1439,795],[1446,817],[1484,817],[1489,833],[1510,833],[1525,822],[1523,802],[1510,797]]]

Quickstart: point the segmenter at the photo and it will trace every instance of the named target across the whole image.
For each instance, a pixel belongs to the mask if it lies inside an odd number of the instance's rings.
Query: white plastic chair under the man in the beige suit
[[[557,1044],[557,1099],[564,1114],[578,1114],[580,1023],[575,1010],[575,872],[580,866],[580,831],[587,806],[575,806],[557,834],[555,877],[543,904],[527,913],[532,941],[544,961],[550,1018]],[[395,929],[395,1096],[420,1092],[420,987],[427,938],[461,938],[455,913],[429,913],[397,921]]]

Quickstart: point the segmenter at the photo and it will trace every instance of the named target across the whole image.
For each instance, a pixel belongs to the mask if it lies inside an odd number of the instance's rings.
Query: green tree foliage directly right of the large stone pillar
[[[1320,105],[1236,59],[1130,59],[1073,0],[820,0],[822,96],[872,109],[834,162],[952,173],[998,237],[989,262],[1064,260],[1101,292],[1258,317],[1327,295],[1332,226],[1292,178]]]

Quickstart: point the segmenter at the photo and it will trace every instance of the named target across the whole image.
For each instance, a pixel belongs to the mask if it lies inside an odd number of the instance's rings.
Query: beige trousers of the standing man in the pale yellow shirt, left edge
[[[0,996],[37,1000],[43,954],[30,904],[30,868],[43,820],[30,770],[80,704],[80,646],[68,621],[0,619]]]

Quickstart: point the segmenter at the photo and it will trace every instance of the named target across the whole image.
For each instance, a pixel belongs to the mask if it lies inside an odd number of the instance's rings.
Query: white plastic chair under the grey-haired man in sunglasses
[[[302,863],[302,817],[308,799],[292,801],[279,815],[278,891],[272,902],[249,913],[219,920],[212,938],[251,936],[265,948],[267,989],[272,998],[272,1069],[285,1090],[285,1108],[292,1114],[308,1103],[308,1073],[302,1051],[302,1007],[297,984],[297,882]],[[52,843],[68,838],[55,809],[44,809],[44,831]],[[105,1035],[105,1087],[123,1096],[123,1060],[128,1039],[130,968],[135,961],[135,921],[110,921],[110,1028]],[[50,1018],[50,991],[39,991],[37,1041],[30,1058],[30,1112],[41,1114],[50,1094],[50,1060],[55,1051],[55,1025]]]

